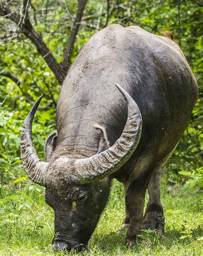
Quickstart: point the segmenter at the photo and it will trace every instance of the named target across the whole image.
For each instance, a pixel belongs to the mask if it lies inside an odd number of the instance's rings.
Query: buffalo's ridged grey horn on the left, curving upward
[[[35,183],[45,186],[45,173],[48,163],[42,162],[35,152],[32,138],[32,124],[42,96],[35,102],[27,115],[21,133],[21,159],[27,176]]]

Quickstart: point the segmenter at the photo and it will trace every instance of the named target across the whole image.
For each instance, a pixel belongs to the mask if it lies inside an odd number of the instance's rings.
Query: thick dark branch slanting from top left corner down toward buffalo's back
[[[49,68],[54,72],[54,75],[56,76],[60,84],[62,84],[66,76],[66,72],[63,70],[63,66],[57,62],[52,52],[43,41],[40,34],[34,30],[32,24],[30,23],[30,19],[27,13],[27,2],[29,2],[29,0],[24,0],[23,19],[22,16],[19,15],[18,13],[11,11],[11,9],[9,9],[9,6],[5,1],[2,1],[0,3],[0,15],[14,21],[19,27],[21,27],[22,33],[24,33],[24,35],[27,36],[33,42],[39,54],[45,56],[44,59],[48,64]]]

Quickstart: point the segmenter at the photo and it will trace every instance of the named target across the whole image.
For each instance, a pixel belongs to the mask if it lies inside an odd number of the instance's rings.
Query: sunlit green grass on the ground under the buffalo
[[[125,246],[126,230],[116,232],[125,208],[122,185],[115,181],[84,255],[203,255],[199,238],[203,236],[200,192],[164,184],[161,193],[165,236],[146,234],[129,249]],[[53,235],[54,214],[44,202],[43,188],[24,181],[20,190],[0,199],[0,255],[54,255]]]

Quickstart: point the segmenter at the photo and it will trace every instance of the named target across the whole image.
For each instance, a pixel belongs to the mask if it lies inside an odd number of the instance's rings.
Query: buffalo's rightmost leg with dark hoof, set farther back
[[[162,168],[155,169],[148,185],[149,202],[144,214],[144,229],[158,229],[164,234],[164,211],[160,200]]]

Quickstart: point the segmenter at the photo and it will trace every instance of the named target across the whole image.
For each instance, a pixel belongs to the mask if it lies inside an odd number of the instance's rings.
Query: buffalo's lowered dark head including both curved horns
[[[92,157],[61,155],[48,162],[39,159],[33,147],[32,123],[42,96],[24,121],[21,158],[28,177],[45,187],[45,201],[54,209],[55,249],[81,251],[87,247],[107,202],[110,175],[121,168],[137,148],[142,126],[139,108],[122,87],[118,84],[116,87],[128,104],[125,128],[110,148]],[[56,139],[54,134],[50,138],[47,147],[52,148]]]

